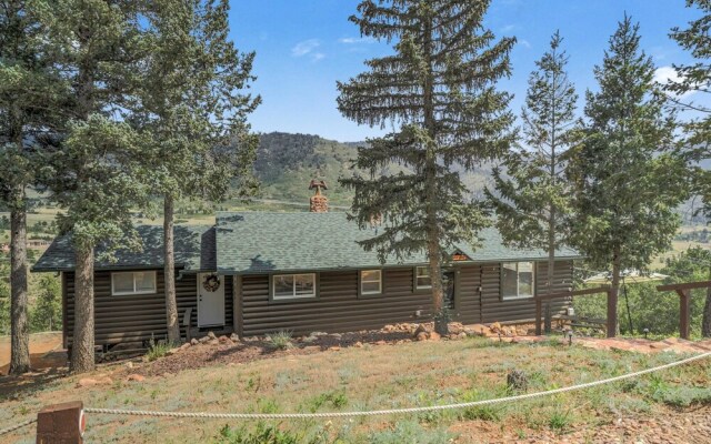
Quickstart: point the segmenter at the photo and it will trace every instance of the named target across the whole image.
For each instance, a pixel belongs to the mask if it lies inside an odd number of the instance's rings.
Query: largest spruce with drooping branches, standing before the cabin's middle
[[[369,140],[356,167],[369,172],[341,183],[354,190],[354,219],[383,229],[362,242],[382,261],[427,253],[435,327],[447,331],[442,265],[457,242],[475,240],[487,223],[453,167],[471,170],[503,155],[513,139],[511,95],[495,82],[511,72],[514,39],[494,41],[482,21],[490,1],[364,0],[351,21],[361,34],[393,42],[394,54],[338,83],[339,110],[359,124],[394,132]],[[390,163],[412,173],[378,175]],[[382,218],[382,219],[381,219]]]

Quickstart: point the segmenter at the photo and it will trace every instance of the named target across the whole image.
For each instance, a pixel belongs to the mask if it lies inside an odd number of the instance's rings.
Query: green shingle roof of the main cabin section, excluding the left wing
[[[375,230],[359,230],[346,213],[219,213],[217,218],[217,263],[224,274],[259,274],[274,271],[318,271],[381,266],[375,252],[365,252],[357,242]],[[494,229],[480,233],[482,245],[457,245],[473,262],[540,260],[542,250],[503,245]],[[579,258],[561,250],[558,258]],[[424,252],[407,260],[389,259],[385,265],[424,264]]]

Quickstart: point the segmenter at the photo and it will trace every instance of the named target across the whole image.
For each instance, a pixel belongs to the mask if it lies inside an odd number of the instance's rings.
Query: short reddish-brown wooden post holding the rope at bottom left
[[[37,444],[82,444],[86,428],[83,403],[48,405],[37,415]]]

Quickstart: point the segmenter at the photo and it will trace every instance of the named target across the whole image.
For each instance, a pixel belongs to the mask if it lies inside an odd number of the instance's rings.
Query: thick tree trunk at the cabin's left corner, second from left
[[[74,337],[69,370],[83,373],[94,369],[93,248],[77,248],[76,258]]]

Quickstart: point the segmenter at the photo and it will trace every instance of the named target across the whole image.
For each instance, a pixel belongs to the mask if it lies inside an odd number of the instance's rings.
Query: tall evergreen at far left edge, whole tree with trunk
[[[30,369],[27,188],[40,164],[36,147],[56,123],[60,88],[34,2],[0,0],[0,202],[10,209],[10,373]]]

